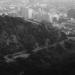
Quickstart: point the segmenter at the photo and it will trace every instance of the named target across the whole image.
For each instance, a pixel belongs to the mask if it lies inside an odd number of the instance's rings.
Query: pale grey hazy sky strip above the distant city
[[[21,3],[22,1],[23,1],[23,3],[25,2],[27,2],[27,1],[30,1],[30,3],[32,2],[32,3],[34,3],[34,2],[48,2],[48,3],[59,3],[59,4],[62,4],[62,3],[66,3],[66,4],[70,4],[70,5],[72,5],[72,3],[73,4],[75,4],[75,0],[0,0],[0,1],[5,1],[5,2],[14,2],[14,3]]]

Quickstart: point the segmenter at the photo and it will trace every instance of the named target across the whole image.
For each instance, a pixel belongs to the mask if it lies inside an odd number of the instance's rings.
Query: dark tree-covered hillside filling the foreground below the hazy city
[[[66,39],[51,23],[0,16],[0,74],[69,74],[75,54]]]

